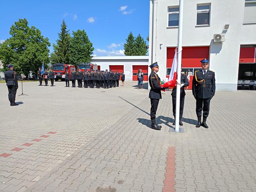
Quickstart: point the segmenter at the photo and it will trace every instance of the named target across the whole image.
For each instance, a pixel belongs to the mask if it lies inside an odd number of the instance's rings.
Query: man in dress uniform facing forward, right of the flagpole
[[[196,99],[195,111],[198,120],[195,127],[199,128],[202,125],[204,128],[208,128],[206,120],[209,115],[210,101],[215,94],[215,73],[208,69],[208,59],[203,59],[200,62],[202,69],[195,71],[192,82],[192,93]],[[202,110],[203,122],[201,123]]]

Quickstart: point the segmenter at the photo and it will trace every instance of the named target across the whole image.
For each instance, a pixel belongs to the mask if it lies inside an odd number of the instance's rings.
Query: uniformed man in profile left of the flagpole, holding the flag
[[[159,71],[159,66],[157,62],[153,63],[149,66],[151,68],[151,73],[148,77],[148,82],[151,87],[149,92],[149,98],[151,102],[150,109],[150,119],[151,119],[151,128],[155,130],[161,130],[162,126],[157,125],[155,121],[155,115],[157,113],[157,107],[159,103],[159,99],[162,99],[161,90],[165,90],[162,88],[160,77],[158,77],[157,72]]]

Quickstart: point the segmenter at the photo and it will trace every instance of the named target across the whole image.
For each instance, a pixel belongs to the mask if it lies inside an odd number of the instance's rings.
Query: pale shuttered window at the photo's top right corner
[[[256,0],[245,0],[244,24],[256,23]]]

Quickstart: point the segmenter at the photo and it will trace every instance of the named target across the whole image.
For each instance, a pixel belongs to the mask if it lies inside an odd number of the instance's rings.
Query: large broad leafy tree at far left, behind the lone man
[[[4,69],[12,64],[15,71],[28,78],[30,71],[36,73],[42,61],[49,62],[49,39],[39,29],[29,27],[27,19],[19,19],[10,28],[11,37],[0,44],[0,60]]]

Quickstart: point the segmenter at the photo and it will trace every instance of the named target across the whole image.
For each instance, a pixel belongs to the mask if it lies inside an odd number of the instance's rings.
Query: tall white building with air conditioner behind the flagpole
[[[178,25],[179,0],[150,0],[149,63],[158,62],[161,78],[172,66]],[[221,33],[226,40],[214,42]],[[193,75],[209,58],[217,91],[236,91],[238,79],[256,81],[256,0],[184,0],[182,47],[182,71]]]

